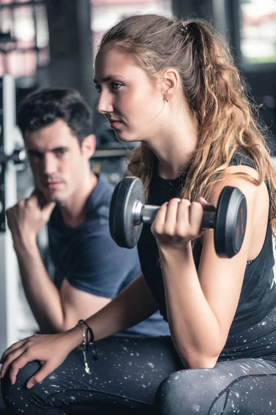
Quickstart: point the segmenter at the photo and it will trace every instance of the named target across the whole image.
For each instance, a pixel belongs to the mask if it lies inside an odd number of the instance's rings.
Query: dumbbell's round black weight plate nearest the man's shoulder
[[[133,248],[139,241],[143,223],[134,225],[137,201],[145,204],[144,186],[139,178],[125,177],[112,194],[109,228],[112,239],[122,248]]]

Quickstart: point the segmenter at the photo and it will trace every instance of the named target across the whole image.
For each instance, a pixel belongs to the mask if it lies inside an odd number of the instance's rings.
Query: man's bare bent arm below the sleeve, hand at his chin
[[[110,302],[109,298],[79,291],[66,280],[59,292],[50,279],[36,239],[54,207],[55,203],[47,203],[41,209],[37,196],[32,194],[6,212],[23,288],[43,333],[70,329],[80,318],[96,313]]]

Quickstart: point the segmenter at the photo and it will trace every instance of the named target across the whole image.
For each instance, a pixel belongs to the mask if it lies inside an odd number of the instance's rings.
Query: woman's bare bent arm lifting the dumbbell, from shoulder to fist
[[[239,170],[235,166],[229,171]],[[257,174],[250,167],[242,166],[242,171],[251,176]],[[264,192],[267,194],[264,183],[256,186],[240,176],[229,174],[215,184],[208,202],[216,206],[226,185],[239,187],[246,196],[248,209],[244,243],[233,258],[217,256],[213,230],[206,230],[202,234],[197,272],[190,241],[200,234],[203,208],[199,203],[172,199],[161,207],[152,224],[159,246],[172,341],[184,365],[190,368],[214,367],[224,348],[237,310],[253,230],[257,225],[256,201]],[[268,194],[265,203],[268,212]]]

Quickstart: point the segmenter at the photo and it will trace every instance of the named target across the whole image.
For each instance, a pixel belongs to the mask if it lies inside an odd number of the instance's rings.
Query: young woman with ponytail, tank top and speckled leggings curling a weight
[[[3,353],[10,414],[64,414],[70,405],[275,413],[275,167],[226,44],[205,21],[128,17],[101,40],[95,84],[117,138],[141,142],[130,174],[161,208],[139,239],[143,275],[75,329]],[[239,187],[248,207],[231,259],[200,230],[206,201],[217,205],[226,185]],[[171,336],[112,336],[157,308]],[[94,349],[76,349],[92,335],[98,360]]]

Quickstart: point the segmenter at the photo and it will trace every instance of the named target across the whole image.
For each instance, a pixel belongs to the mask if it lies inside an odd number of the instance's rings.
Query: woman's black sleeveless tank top
[[[250,158],[244,154],[235,154],[230,165],[240,164],[254,168],[253,161]],[[164,202],[177,197],[181,188],[185,185],[185,181],[186,172],[178,178],[166,180],[159,177],[155,169],[150,183],[148,203],[150,205],[162,205]],[[271,201],[269,186],[268,192]],[[243,331],[253,326],[253,324],[257,324],[276,306],[276,287],[273,274],[275,261],[272,231],[269,222],[270,218],[268,219],[266,238],[261,252],[259,252],[256,259],[248,261],[246,265],[239,304],[229,334]],[[137,247],[141,269],[146,282],[159,304],[161,315],[163,315],[164,320],[168,321],[157,242],[150,232],[150,225],[146,223],[144,223]],[[199,267],[201,248],[201,241],[197,239],[193,248],[193,257],[197,269]]]

